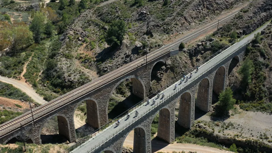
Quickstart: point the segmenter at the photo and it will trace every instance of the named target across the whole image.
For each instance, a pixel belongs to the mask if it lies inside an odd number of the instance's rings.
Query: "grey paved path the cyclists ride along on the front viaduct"
[[[249,39],[254,37],[254,34],[261,32],[265,27],[267,27],[268,23],[266,23],[265,25],[263,25],[262,27],[260,27],[259,29],[257,29],[256,31],[254,31],[253,33],[251,33],[249,36],[247,36],[246,38],[242,39],[240,42],[237,42],[236,44],[232,45],[231,47],[227,48],[225,51],[223,51],[222,53],[218,54],[216,57],[214,57],[213,59],[207,61],[205,64],[203,64],[202,66],[199,67],[199,71],[198,72],[192,72],[193,77],[190,78],[188,80],[188,82],[191,81],[191,79],[194,79],[194,77],[196,75],[201,74],[202,72],[204,73],[205,70],[207,70],[209,67],[211,67],[212,65],[214,65],[216,62],[220,61],[220,59],[223,59],[225,56],[227,56],[229,53],[231,53],[232,51],[234,51],[235,49],[239,48],[242,44],[244,44],[245,42],[247,42]],[[190,76],[188,76],[190,77]],[[175,84],[177,84],[177,88],[182,88],[182,85],[184,85],[184,83],[181,83],[179,85],[179,81],[177,81],[176,83],[174,83],[173,85],[171,85],[170,87],[168,87],[167,89],[165,89],[163,92],[165,94],[165,96],[170,95],[173,91],[174,91],[174,86]],[[162,92],[161,92],[162,93]],[[147,110],[149,110],[150,108],[152,108],[151,104],[153,99],[157,98],[157,96],[153,97],[150,99],[150,104],[146,105],[146,103],[144,103],[143,105],[141,105],[139,108],[137,108],[136,110],[139,112],[139,115],[141,115],[142,113],[146,112]],[[156,99],[155,99],[156,100]],[[156,100],[156,104],[159,102],[160,99]],[[83,143],[81,146],[79,146],[78,148],[76,148],[75,150],[73,150],[73,153],[76,152],[80,152],[80,153],[85,153],[87,152],[89,149],[91,149],[92,147],[94,147],[96,144],[98,144],[100,141],[103,141],[106,139],[106,137],[109,137],[110,135],[112,135],[113,133],[116,133],[117,131],[120,130],[120,128],[122,128],[124,125],[126,125],[126,123],[129,123],[133,120],[135,113],[134,111],[131,113],[131,117],[126,120],[125,117],[123,117],[122,119],[120,119],[120,125],[117,128],[114,128],[115,124],[109,126],[108,128],[106,128],[105,130],[103,130],[101,133],[99,133],[98,135],[96,135],[93,139],[88,140],[87,142]],[[125,121],[126,120],[126,121]],[[135,119],[134,119],[135,120]]]

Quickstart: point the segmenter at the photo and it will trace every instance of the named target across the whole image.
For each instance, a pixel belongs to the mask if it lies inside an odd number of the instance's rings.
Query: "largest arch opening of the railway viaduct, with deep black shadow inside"
[[[108,117],[114,119],[145,97],[144,83],[136,78],[124,79],[109,98]]]

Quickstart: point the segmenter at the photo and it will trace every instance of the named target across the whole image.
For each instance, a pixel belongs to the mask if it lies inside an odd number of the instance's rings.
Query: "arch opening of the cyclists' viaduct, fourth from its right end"
[[[190,91],[185,91],[180,96],[178,124],[184,128],[191,127],[192,96]]]

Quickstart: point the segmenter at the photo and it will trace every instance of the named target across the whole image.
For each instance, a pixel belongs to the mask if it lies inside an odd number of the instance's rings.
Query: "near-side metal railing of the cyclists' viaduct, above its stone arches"
[[[249,42],[251,42],[252,38],[250,38],[247,42],[245,42],[244,44],[242,44],[241,46],[239,46],[237,49],[235,49],[234,51],[232,51],[231,53],[229,53],[228,55],[226,55],[224,58],[220,59],[218,62],[216,62],[215,64],[213,64],[212,66],[210,66],[209,68],[207,68],[204,72],[202,72],[201,74],[197,75],[196,77],[194,77],[193,79],[191,79],[189,81],[189,83],[187,82],[185,85],[183,85],[182,87],[176,89],[174,92],[172,92],[171,94],[167,95],[166,97],[164,97],[164,100],[160,100],[159,102],[155,103],[154,106],[152,106],[150,109],[148,109],[147,111],[145,111],[144,113],[141,113],[141,115],[139,115],[138,117],[136,117],[135,119],[133,119],[131,122],[127,123],[126,125],[124,125],[122,128],[120,128],[119,130],[117,130],[116,132],[114,132],[113,134],[111,134],[109,137],[106,137],[106,139],[104,139],[103,141],[100,141],[98,144],[96,144],[95,146],[93,146],[91,149],[89,149],[87,152],[85,153],[91,153],[94,150],[96,150],[98,147],[100,147],[101,145],[103,145],[104,143],[106,143],[107,141],[109,141],[111,138],[113,138],[115,135],[117,135],[118,133],[122,132],[126,127],[130,126],[132,123],[136,122],[137,120],[139,120],[142,116],[146,115],[147,113],[149,113],[150,111],[152,111],[153,109],[155,109],[156,107],[158,107],[159,105],[161,105],[163,102],[165,102],[166,100],[168,100],[169,98],[171,98],[172,96],[174,96],[175,94],[177,94],[179,91],[181,91],[184,87],[188,86],[188,84],[192,83],[193,81],[195,81],[196,79],[198,79],[199,77],[201,77],[204,73],[206,73],[207,71],[211,70],[212,68],[214,68],[217,64],[219,64],[220,62],[222,62],[223,60],[225,60],[227,57],[229,57],[230,55],[232,55],[233,53],[235,53],[236,51],[238,51],[240,48],[244,47],[245,45],[247,45]],[[157,105],[156,105],[157,104]]]

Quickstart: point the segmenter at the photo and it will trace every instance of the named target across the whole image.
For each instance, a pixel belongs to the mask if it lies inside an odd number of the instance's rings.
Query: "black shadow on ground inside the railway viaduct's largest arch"
[[[120,102],[116,101],[116,99],[111,99],[109,102],[108,108],[113,107],[113,109],[108,113],[109,119],[113,119],[117,117],[118,115],[124,113],[126,110],[133,107],[141,100],[142,100],[141,98],[133,95],[132,93],[126,99]],[[115,105],[116,103],[117,105]],[[134,115],[131,115],[131,116],[134,116]]]

